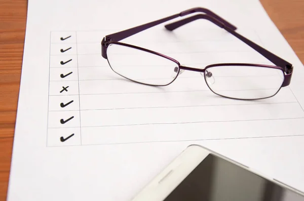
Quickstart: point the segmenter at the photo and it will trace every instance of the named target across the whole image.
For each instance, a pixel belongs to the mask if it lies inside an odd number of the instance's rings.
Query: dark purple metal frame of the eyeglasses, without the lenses
[[[219,63],[219,64],[208,65],[205,68],[193,68],[193,67],[182,66],[182,65],[180,65],[180,63],[177,60],[175,60],[175,59],[173,59],[171,57],[168,57],[168,56],[166,56],[164,54],[161,54],[161,53],[158,53],[158,52],[154,52],[154,51],[151,51],[151,50],[148,50],[148,49],[144,49],[144,48],[141,48],[141,47],[138,47],[138,46],[133,46],[133,45],[130,45],[130,44],[125,44],[125,43],[120,43],[119,42],[119,41],[121,41],[124,38],[127,38],[127,37],[129,37],[131,35],[139,33],[141,31],[146,30],[148,28],[151,28],[153,26],[159,25],[161,23],[167,22],[167,21],[175,19],[177,17],[182,17],[182,16],[185,16],[185,15],[188,15],[188,14],[192,14],[192,13],[196,13],[196,12],[202,12],[202,13],[205,13],[205,14],[194,15],[194,16],[191,16],[191,17],[188,17],[188,18],[185,18],[185,19],[181,19],[179,21],[167,24],[167,25],[165,25],[166,29],[172,31],[172,30],[174,30],[174,29],[176,29],[176,28],[178,28],[178,27],[180,27],[182,25],[185,25],[185,24],[187,24],[189,22],[192,22],[192,21],[195,21],[195,20],[198,20],[198,19],[209,20],[209,21],[213,22],[214,24],[216,24],[217,26],[219,26],[220,28],[225,29],[226,31],[230,32],[231,34],[233,34],[234,36],[236,36],[237,38],[239,38],[241,41],[243,41],[244,43],[246,43],[248,46],[250,46],[251,48],[253,48],[255,51],[257,51],[262,56],[264,56],[265,58],[267,58],[269,61],[271,61],[272,63],[274,63],[276,66],[263,65],[263,64],[249,64],[249,63]],[[149,22],[149,23],[146,23],[146,24],[143,24],[143,25],[139,25],[139,26],[136,26],[136,27],[133,27],[133,28],[130,28],[130,29],[126,29],[126,30],[123,30],[123,31],[119,31],[119,32],[116,32],[116,33],[112,33],[112,34],[106,35],[105,37],[103,37],[103,39],[101,41],[101,55],[102,55],[103,58],[107,59],[107,54],[106,54],[107,53],[107,47],[110,44],[117,44],[117,45],[134,48],[134,49],[137,49],[137,50],[145,51],[145,52],[148,52],[148,53],[151,53],[151,54],[155,54],[155,55],[164,57],[166,59],[169,59],[169,60],[175,62],[178,65],[177,75],[173,79],[172,82],[174,82],[175,79],[177,78],[180,69],[197,71],[197,72],[203,72],[205,74],[205,71],[208,68],[214,67],[214,66],[230,66],[230,65],[234,65],[234,66],[257,66],[257,67],[265,67],[265,68],[276,68],[276,69],[280,69],[280,70],[283,71],[284,81],[283,81],[281,87],[279,88],[279,90],[274,95],[272,95],[272,96],[275,96],[280,91],[280,89],[282,87],[286,87],[286,86],[288,86],[290,84],[291,76],[292,76],[292,71],[293,71],[292,64],[290,64],[289,62],[285,61],[284,59],[278,57],[277,55],[269,52],[268,50],[260,47],[259,45],[253,43],[252,41],[250,41],[246,37],[244,37],[241,34],[237,33],[235,31],[236,29],[237,29],[236,26],[234,26],[233,24],[227,22],[226,20],[224,20],[223,18],[219,17],[218,15],[216,15],[215,13],[213,13],[212,11],[210,11],[208,9],[205,9],[205,8],[192,8],[192,9],[188,9],[188,10],[182,11],[182,12],[180,12],[178,14],[171,15],[171,16],[163,18],[163,19],[159,19],[159,20],[156,20],[156,21],[153,21],[153,22]],[[108,63],[109,63],[109,61],[108,61]],[[113,71],[115,71],[115,70],[113,70]],[[121,76],[123,76],[123,75],[121,75]],[[123,77],[125,77],[125,76],[123,76]],[[128,77],[125,77],[125,78],[129,79]],[[130,79],[130,80],[134,81],[132,79]],[[205,78],[205,81],[206,81],[206,78]],[[137,82],[137,81],[134,81],[134,82],[140,83],[140,82]],[[171,83],[169,83],[167,85],[170,85]],[[144,83],[140,83],[140,84],[144,84]],[[206,81],[206,84],[207,84],[207,81]],[[149,84],[144,84],[144,85],[149,85]],[[167,86],[167,85],[150,85],[150,86]],[[209,87],[208,84],[207,84],[207,86],[212,91],[212,89]],[[212,91],[212,92],[215,93],[214,91]],[[217,93],[215,93],[215,94],[217,94]],[[222,96],[220,94],[217,94],[217,95]],[[270,98],[272,96],[265,97],[265,98]],[[226,96],[223,96],[223,97],[226,97]],[[231,98],[231,97],[226,97],[226,98]],[[232,99],[238,99],[238,98],[232,98]],[[257,98],[257,99],[264,99],[264,98]],[[257,100],[257,99],[240,99],[240,100]]]

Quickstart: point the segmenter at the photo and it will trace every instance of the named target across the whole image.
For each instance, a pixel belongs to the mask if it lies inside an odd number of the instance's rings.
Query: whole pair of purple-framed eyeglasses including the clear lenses
[[[177,17],[202,12],[165,27],[172,31],[197,19],[206,19],[230,32],[262,56],[275,64],[261,65],[250,63],[220,63],[205,68],[184,65],[166,55],[141,47],[120,43],[124,38],[167,22]],[[209,89],[226,98],[257,100],[276,95],[282,87],[290,84],[292,64],[251,42],[235,30],[237,28],[205,8],[193,8],[157,21],[149,22],[127,30],[106,35],[101,42],[102,57],[107,59],[111,69],[136,83],[149,86],[167,86],[184,70],[200,72]]]

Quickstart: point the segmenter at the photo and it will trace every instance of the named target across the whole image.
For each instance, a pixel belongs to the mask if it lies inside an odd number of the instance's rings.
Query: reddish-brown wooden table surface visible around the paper
[[[304,1],[261,0],[302,63]],[[26,0],[0,0],[0,200],[6,200],[26,24]]]

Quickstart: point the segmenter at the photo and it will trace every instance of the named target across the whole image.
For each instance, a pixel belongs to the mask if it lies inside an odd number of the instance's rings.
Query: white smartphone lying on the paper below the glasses
[[[304,201],[304,193],[200,145],[188,146],[132,201]]]

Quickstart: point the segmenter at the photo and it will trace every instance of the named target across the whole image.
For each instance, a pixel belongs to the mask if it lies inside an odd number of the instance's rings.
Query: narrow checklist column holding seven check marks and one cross
[[[50,50],[48,146],[81,145],[76,32],[51,33]]]

